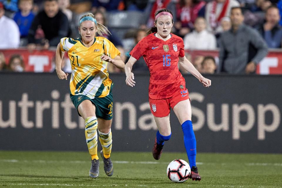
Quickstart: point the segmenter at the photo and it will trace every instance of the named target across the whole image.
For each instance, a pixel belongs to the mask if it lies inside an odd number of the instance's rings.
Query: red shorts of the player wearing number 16
[[[180,101],[189,99],[189,93],[185,87],[183,89],[177,89],[173,93],[172,97],[165,99],[151,99],[149,97],[151,112],[155,117],[168,116],[170,108],[173,109]]]

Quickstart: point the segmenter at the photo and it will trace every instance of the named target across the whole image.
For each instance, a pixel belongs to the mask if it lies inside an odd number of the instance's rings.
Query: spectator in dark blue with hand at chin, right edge
[[[268,48],[281,48],[282,27],[279,25],[280,15],[276,6],[266,10],[266,22],[257,27],[259,33],[266,41]]]

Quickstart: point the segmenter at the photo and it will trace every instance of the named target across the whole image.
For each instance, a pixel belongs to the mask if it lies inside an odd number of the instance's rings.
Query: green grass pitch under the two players
[[[87,152],[0,151],[0,188],[18,187],[282,187],[281,154],[198,153],[200,182],[177,184],[166,176],[174,159],[188,161],[185,153],[164,152],[160,160],[150,152],[113,152],[114,175],[89,177]]]

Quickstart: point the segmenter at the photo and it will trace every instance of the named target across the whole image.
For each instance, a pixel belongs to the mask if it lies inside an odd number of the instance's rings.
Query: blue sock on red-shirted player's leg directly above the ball
[[[193,131],[192,121],[187,120],[182,124],[184,134],[184,145],[187,152],[190,168],[196,166],[196,138]]]

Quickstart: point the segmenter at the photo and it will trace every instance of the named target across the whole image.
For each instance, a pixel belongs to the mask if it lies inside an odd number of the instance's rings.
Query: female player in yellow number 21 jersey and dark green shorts
[[[78,115],[85,120],[85,137],[92,164],[89,176],[99,175],[99,157],[97,155],[98,134],[103,150],[100,151],[104,170],[113,175],[110,160],[112,150],[111,124],[113,117],[113,82],[109,78],[107,64],[112,63],[123,69],[125,64],[120,58],[120,51],[104,37],[110,34],[108,29],[99,24],[95,16],[87,13],[80,18],[78,31],[81,38],[62,38],[56,51],[56,72],[60,79],[67,79],[68,73],[61,70],[65,51],[70,58],[72,73],[70,78],[70,98],[78,110]]]

